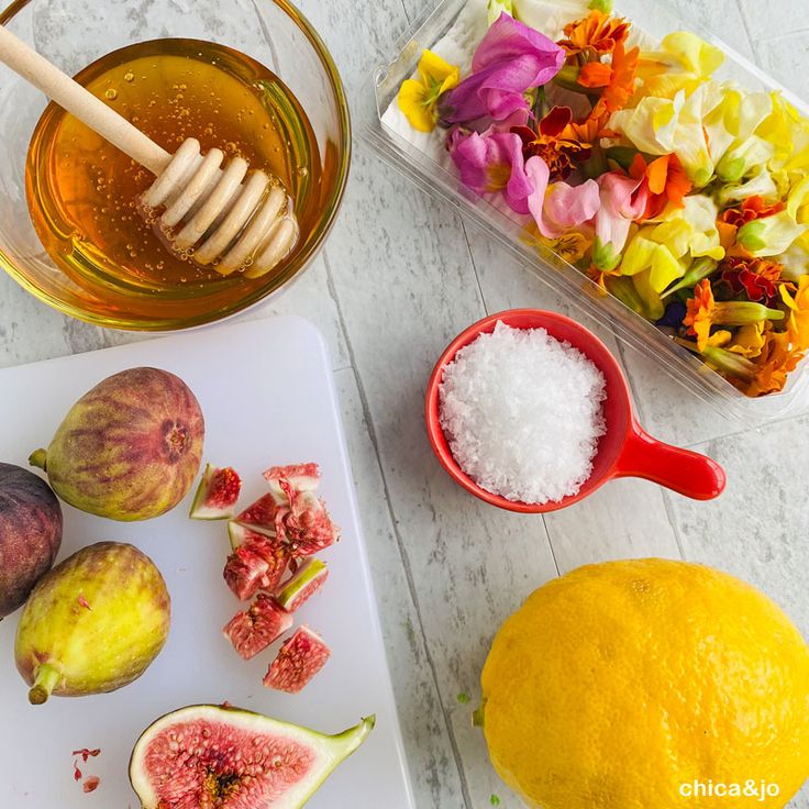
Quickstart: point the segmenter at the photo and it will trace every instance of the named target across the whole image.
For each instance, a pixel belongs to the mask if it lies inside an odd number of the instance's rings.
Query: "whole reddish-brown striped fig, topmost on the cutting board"
[[[85,394],[47,452],[37,450],[30,461],[77,509],[112,520],[148,520],[188,494],[203,439],[199,402],[179,377],[130,368]]]

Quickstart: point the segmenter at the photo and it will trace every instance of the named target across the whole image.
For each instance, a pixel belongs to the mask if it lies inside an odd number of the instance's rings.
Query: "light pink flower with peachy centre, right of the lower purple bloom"
[[[572,228],[589,222],[598,212],[598,184],[587,180],[580,186],[554,182],[548,186],[551,171],[542,157],[531,157],[525,174],[533,185],[528,198],[531,215],[546,239],[557,239]]]

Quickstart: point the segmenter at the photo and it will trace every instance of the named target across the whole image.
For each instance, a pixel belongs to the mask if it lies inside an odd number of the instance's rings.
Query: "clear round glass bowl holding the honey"
[[[256,303],[298,276],[334,222],[351,162],[351,121],[336,66],[323,41],[286,0],[18,0],[0,23],[69,75],[104,54],[147,40],[197,38],[235,48],[276,73],[298,98],[314,131],[321,181],[306,191],[317,204],[312,226],[290,256],[255,280],[225,279],[185,295],[154,293],[128,302],[79,287],[57,267],[31,222],[25,159],[47,99],[0,65],[0,266],[40,300],[91,323],[134,331],[174,331],[220,320]],[[296,200],[301,203],[301,200]],[[234,295],[233,285],[239,285]]]

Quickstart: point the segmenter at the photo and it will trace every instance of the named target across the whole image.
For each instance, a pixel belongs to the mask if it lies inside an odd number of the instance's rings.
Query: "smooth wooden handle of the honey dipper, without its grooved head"
[[[133,160],[159,176],[171,155],[89,90],[0,25],[0,62],[42,90]]]

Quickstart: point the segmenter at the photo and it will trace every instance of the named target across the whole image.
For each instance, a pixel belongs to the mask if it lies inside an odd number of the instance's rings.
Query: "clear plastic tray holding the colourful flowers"
[[[617,339],[652,359],[692,394],[712,404],[725,418],[749,425],[783,417],[799,399],[809,383],[807,364],[801,363],[789,376],[786,388],[758,399],[751,399],[736,390],[718,373],[710,369],[686,348],[674,343],[649,321],[625,307],[578,269],[550,250],[529,246],[523,241],[522,228],[491,201],[466,189],[457,175],[440,165],[425,151],[420,149],[401,134],[386,126],[383,117],[396,100],[401,82],[410,77],[418,65],[421,52],[441,41],[451,31],[469,0],[443,0],[432,11],[418,20],[397,44],[397,53],[379,65],[374,73],[374,109],[366,100],[363,137],[389,164],[420,188],[446,201],[459,210],[473,223],[485,229],[491,237],[508,247],[530,271],[552,286],[564,290],[580,311],[595,318]],[[564,8],[562,0],[558,5]],[[580,8],[580,7],[579,7]],[[717,71],[719,79],[733,79],[750,90],[779,90],[795,107],[809,117],[809,107],[785,90],[732,46],[722,42],[699,25],[685,20],[677,12],[655,0],[618,0],[614,12],[656,40],[672,31],[687,30],[711,42],[725,53],[725,63]],[[573,7],[570,19],[575,19]]]

